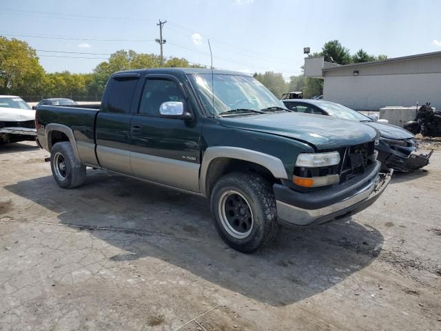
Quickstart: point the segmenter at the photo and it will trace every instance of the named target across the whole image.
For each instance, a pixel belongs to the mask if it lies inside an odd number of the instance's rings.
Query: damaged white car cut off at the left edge
[[[0,145],[35,140],[35,110],[21,97],[0,95]]]

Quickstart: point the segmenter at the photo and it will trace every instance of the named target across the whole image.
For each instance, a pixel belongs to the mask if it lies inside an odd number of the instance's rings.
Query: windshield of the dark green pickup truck
[[[265,108],[283,108],[283,102],[253,77],[234,74],[189,74],[198,97],[212,115],[231,110],[260,111]],[[212,81],[214,83],[214,109]]]

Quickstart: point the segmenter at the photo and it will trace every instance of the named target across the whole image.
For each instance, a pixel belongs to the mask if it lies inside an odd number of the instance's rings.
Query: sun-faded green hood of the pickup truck
[[[221,117],[220,123],[229,128],[267,132],[304,141],[318,150],[365,143],[377,135],[373,128],[354,121],[292,112]]]

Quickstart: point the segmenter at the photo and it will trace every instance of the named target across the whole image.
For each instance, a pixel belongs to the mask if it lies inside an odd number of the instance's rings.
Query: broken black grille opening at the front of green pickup
[[[359,145],[342,148],[340,152],[340,183],[351,179],[357,174],[365,172],[365,168],[372,162],[374,143],[361,143]]]

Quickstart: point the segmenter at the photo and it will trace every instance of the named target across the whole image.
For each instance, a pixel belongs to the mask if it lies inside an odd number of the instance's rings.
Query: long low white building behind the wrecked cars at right
[[[305,59],[305,77],[324,79],[323,99],[356,110],[415,106],[441,109],[441,52],[340,66]]]

